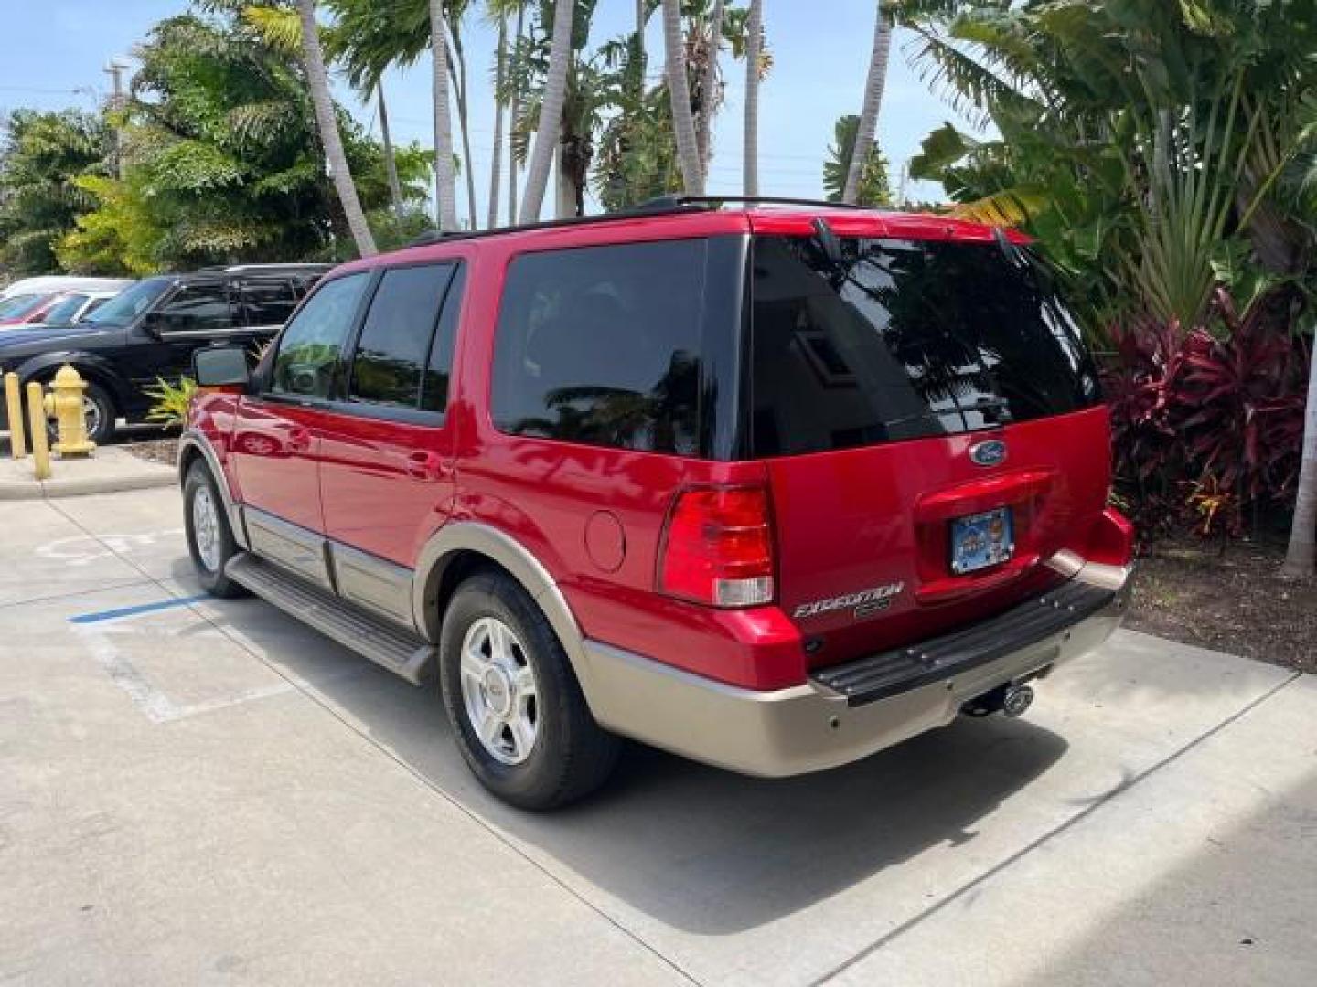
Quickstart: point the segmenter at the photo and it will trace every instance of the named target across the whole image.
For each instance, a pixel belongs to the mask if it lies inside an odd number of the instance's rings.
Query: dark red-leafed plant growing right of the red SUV
[[[1262,312],[1254,304],[1241,315],[1221,290],[1212,308],[1220,336],[1154,321],[1113,332],[1117,482],[1150,530],[1200,513],[1192,491],[1217,492],[1208,526],[1235,536],[1247,512],[1293,495],[1308,354]]]

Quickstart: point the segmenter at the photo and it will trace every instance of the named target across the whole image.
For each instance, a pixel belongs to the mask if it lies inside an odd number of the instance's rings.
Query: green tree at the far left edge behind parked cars
[[[105,174],[109,132],[78,111],[18,109],[0,139],[0,267],[14,275],[57,268],[55,246],[90,205],[78,178]]]

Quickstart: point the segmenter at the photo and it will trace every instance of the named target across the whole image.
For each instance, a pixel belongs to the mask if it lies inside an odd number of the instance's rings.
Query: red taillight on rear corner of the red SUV
[[[768,494],[757,487],[681,494],[668,519],[658,590],[714,607],[770,603]]]

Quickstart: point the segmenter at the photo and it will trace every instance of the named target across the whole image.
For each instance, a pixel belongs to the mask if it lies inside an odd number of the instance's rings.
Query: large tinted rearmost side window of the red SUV
[[[524,254],[494,354],[500,432],[694,455],[705,240]]]

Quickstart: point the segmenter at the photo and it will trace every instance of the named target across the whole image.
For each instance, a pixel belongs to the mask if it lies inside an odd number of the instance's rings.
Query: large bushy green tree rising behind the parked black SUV
[[[80,186],[94,208],[65,237],[61,261],[141,274],[345,259],[352,238],[325,175],[298,46],[275,30],[287,26],[287,11],[253,14],[230,0],[196,7],[200,13],[157,24],[138,47],[124,178]],[[382,149],[344,111],[338,116],[358,195],[383,220]],[[404,201],[423,204],[432,155],[412,145],[396,159]]]

